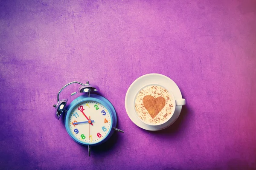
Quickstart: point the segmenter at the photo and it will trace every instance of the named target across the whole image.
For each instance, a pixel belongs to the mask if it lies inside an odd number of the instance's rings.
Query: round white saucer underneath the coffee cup
[[[172,81],[172,79],[170,79],[169,77],[166,77],[162,74],[145,74],[145,75],[139,77],[138,79],[136,79],[128,88],[128,91],[125,96],[126,112],[129,116],[129,118],[131,119],[131,121],[134,122],[135,125],[143,128],[145,130],[165,129],[166,127],[169,127],[170,125],[172,125],[177,120],[177,118],[180,116],[180,111],[181,111],[182,106],[176,105],[174,114],[171,117],[171,119],[169,119],[169,121],[167,121],[166,123],[164,123],[162,125],[147,125],[147,124],[143,123],[136,116],[137,113],[136,113],[136,110],[134,107],[134,103],[135,103],[135,99],[136,99],[136,96],[139,93],[139,91],[148,85],[160,85],[163,88],[166,88],[166,90],[170,91],[173,94],[173,96],[175,97],[175,100],[182,99],[180,89],[178,88],[176,83],[174,81]]]

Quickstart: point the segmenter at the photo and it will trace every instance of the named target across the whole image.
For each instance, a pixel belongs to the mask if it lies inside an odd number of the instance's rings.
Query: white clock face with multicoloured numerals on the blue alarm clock
[[[76,105],[67,119],[73,138],[86,144],[101,142],[108,136],[112,127],[108,109],[92,100]]]

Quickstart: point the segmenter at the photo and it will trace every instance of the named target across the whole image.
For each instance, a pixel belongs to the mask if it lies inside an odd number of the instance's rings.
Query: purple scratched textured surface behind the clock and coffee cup
[[[158,132],[125,112],[129,85],[148,73],[187,102]],[[0,167],[255,170],[255,78],[255,0],[2,0]],[[90,158],[53,115],[74,80],[98,85],[125,131]]]

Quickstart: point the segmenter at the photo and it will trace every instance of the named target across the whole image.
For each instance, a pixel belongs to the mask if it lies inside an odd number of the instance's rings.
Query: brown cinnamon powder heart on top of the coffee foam
[[[166,103],[166,100],[162,96],[154,98],[153,96],[148,95],[145,96],[142,101],[143,105],[153,119],[163,109]]]

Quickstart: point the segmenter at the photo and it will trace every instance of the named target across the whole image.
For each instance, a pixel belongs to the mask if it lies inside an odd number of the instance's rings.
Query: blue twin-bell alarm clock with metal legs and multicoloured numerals
[[[68,85],[78,83],[80,93],[83,95],[74,99],[67,106],[67,99],[59,100],[59,94]],[[70,82],[65,85],[57,94],[57,104],[55,107],[55,117],[59,119],[62,114],[65,115],[65,127],[70,137],[79,144],[88,146],[90,156],[90,147],[106,142],[114,131],[122,132],[116,128],[116,111],[108,99],[98,94],[96,85],[90,85],[81,82]],[[75,95],[76,92],[71,94]]]

